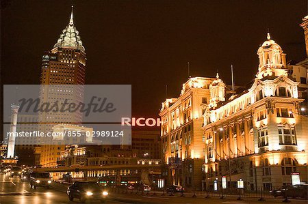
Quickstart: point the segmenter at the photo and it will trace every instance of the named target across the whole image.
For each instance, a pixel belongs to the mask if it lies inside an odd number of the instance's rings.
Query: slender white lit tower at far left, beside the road
[[[14,151],[15,151],[15,133],[16,133],[16,125],[17,125],[17,115],[18,115],[19,106],[12,104],[11,110],[11,126],[10,126],[10,136],[8,138],[8,156],[7,158],[14,159]]]

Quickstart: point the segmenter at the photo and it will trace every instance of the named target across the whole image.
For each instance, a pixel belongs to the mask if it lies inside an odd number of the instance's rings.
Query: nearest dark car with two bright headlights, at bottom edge
[[[105,202],[108,192],[94,181],[75,181],[72,186],[67,188],[68,199],[79,199],[81,203],[86,200],[98,199],[101,202]]]

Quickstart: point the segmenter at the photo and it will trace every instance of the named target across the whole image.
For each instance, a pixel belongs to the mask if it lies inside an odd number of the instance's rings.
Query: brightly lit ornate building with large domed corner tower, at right
[[[258,72],[245,91],[227,98],[222,90],[213,91],[224,87],[219,78],[211,85],[211,100],[203,106],[204,189],[222,176],[233,188],[242,178],[251,190],[291,184],[294,172],[307,182],[307,107],[298,96],[300,81],[307,86],[307,72],[298,72],[306,81],[292,77],[296,72],[270,33],[257,55]]]

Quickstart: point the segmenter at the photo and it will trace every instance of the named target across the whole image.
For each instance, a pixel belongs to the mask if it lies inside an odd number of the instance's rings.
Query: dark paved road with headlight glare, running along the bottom
[[[51,189],[37,188],[30,189],[28,182],[21,181],[18,177],[10,178],[8,175],[0,175],[0,203],[18,203],[18,204],[53,204],[53,203],[79,203],[78,200],[73,202],[68,201],[66,195],[66,186],[62,184],[53,184]],[[89,201],[87,203],[90,203]],[[100,203],[93,201],[91,203]],[[192,198],[191,196],[149,196],[136,194],[113,194],[110,193],[110,198],[106,203],[208,203],[208,204],[251,204],[260,203],[256,199],[237,201],[236,199],[204,199],[201,197]],[[281,203],[281,200],[268,201],[266,203]],[[292,203],[307,204],[307,201],[292,201]]]

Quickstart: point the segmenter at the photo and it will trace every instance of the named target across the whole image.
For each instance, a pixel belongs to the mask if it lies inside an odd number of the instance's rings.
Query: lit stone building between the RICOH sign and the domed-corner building
[[[168,183],[198,190],[204,163],[203,111],[215,78],[194,77],[183,84],[179,98],[166,99],[159,113],[162,121],[162,158],[168,164]]]

